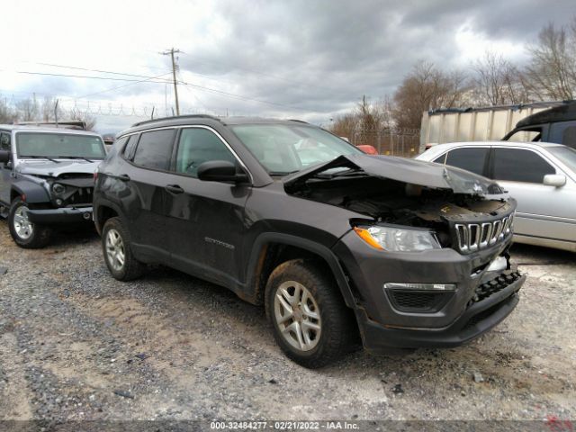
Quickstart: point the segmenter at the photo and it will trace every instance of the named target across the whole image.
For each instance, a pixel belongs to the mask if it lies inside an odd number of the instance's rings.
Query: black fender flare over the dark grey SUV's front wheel
[[[340,266],[340,262],[338,257],[330,250],[329,247],[321,245],[315,241],[309,240],[307,238],[301,238],[297,236],[293,236],[290,234],[283,234],[277,232],[265,232],[260,234],[254,245],[252,247],[252,252],[250,253],[250,257],[248,260],[248,275],[247,275],[247,282],[248,286],[256,286],[257,284],[257,267],[260,254],[262,252],[263,247],[266,247],[269,243],[277,243],[286,246],[293,246],[293,247],[300,247],[305,249],[321,258],[323,258],[326,263],[329,265],[330,271],[338,284],[338,289],[342,294],[344,302],[348,308],[356,309],[356,301],[352,290],[350,289],[350,285],[347,281],[347,275],[344,272],[342,266]]]

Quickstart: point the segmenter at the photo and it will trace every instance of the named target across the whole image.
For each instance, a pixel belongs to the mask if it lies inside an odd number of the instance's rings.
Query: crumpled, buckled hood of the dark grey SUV
[[[490,179],[455,166],[445,166],[405,157],[368,155],[343,155],[337,157],[326,164],[312,166],[309,169],[284,177],[284,184],[290,187],[316,174],[338,167],[361,169],[367,175],[407,184],[450,189],[454,193],[480,195],[503,193],[500,186]]]

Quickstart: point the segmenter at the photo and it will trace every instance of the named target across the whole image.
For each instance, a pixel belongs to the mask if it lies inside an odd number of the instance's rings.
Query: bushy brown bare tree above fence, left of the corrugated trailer
[[[394,94],[393,118],[399,128],[419,128],[422,112],[453,108],[469,90],[464,72],[446,73],[432,63],[420,61]]]

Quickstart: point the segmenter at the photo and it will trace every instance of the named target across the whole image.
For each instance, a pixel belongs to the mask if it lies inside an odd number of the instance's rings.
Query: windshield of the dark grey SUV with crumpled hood
[[[326,130],[304,125],[242,124],[232,130],[271,175],[286,175],[362,150]]]

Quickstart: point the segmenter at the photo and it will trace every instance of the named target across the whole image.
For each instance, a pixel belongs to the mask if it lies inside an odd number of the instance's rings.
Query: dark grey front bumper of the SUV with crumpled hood
[[[455,347],[496,326],[518,304],[526,280],[510,266],[489,271],[496,257],[507,257],[510,243],[511,236],[469,255],[448,248],[409,254],[368,247],[354,233],[341,238],[333,250],[349,275],[365,348]],[[384,289],[387,283],[455,284],[457,289],[428,307],[410,296],[395,298]],[[492,289],[491,283],[498,286]]]

